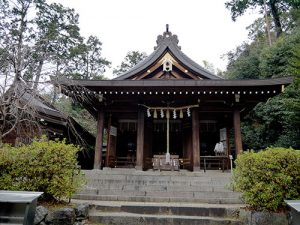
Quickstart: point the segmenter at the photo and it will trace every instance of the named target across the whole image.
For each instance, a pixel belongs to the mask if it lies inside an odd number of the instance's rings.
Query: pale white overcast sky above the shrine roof
[[[227,0],[228,1],[228,0]],[[48,0],[74,8],[84,37],[102,42],[102,56],[120,65],[129,51],[151,54],[156,38],[166,29],[176,34],[181,50],[202,64],[226,69],[221,58],[246,41],[249,26],[258,15],[247,12],[236,22],[225,8],[226,0]],[[105,73],[112,78],[112,69]]]

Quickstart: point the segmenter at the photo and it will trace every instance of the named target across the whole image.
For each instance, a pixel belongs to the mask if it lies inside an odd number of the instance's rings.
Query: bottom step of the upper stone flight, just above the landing
[[[138,195],[93,195],[93,194],[75,194],[74,199],[81,200],[99,200],[99,201],[133,201],[133,202],[191,202],[191,203],[211,203],[211,204],[240,204],[241,200],[234,197],[163,197],[163,196],[138,196]]]

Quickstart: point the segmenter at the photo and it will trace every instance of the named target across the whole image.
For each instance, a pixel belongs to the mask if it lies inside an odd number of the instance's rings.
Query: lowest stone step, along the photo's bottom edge
[[[89,215],[91,222],[111,225],[241,225],[232,218],[182,216],[182,215],[154,215],[136,214],[128,212],[96,212]]]

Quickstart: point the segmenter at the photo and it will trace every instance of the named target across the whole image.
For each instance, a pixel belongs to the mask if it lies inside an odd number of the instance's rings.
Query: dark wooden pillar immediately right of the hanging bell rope
[[[199,112],[192,110],[193,171],[200,171]]]

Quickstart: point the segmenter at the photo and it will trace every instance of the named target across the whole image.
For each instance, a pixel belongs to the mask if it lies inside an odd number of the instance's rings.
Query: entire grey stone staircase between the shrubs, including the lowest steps
[[[241,225],[240,194],[222,171],[84,171],[87,184],[72,199],[90,205],[101,224]]]

